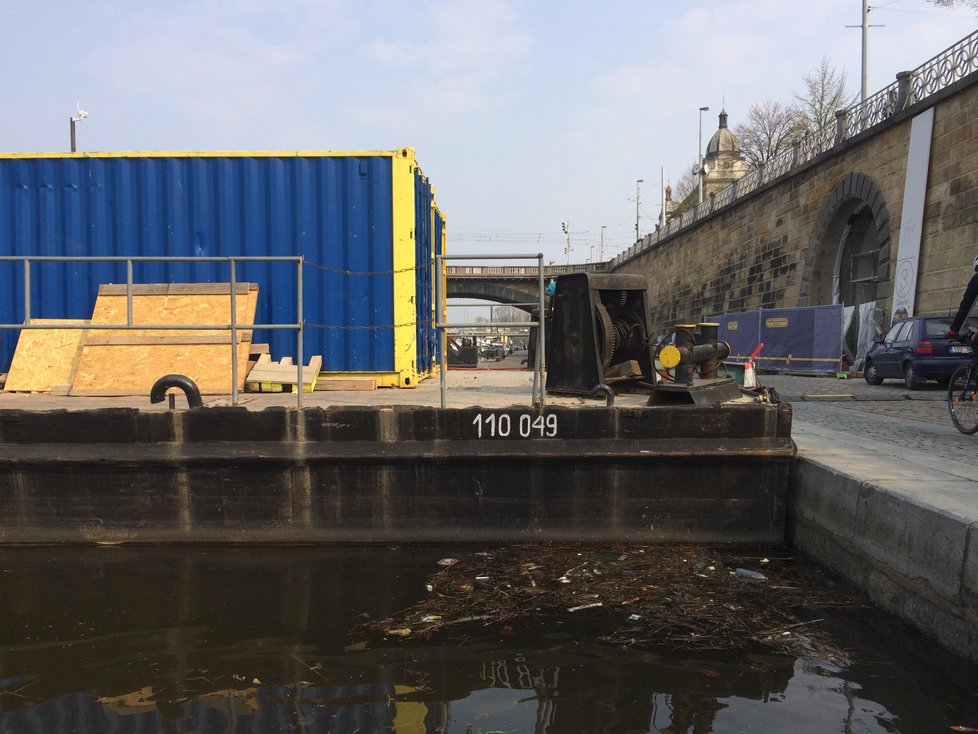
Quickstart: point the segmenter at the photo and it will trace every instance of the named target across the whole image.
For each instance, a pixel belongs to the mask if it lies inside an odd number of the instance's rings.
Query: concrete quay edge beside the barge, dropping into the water
[[[975,467],[795,422],[787,540],[978,661]]]

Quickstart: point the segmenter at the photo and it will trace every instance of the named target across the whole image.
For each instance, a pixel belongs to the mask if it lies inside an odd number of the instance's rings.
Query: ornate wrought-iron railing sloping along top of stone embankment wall
[[[637,257],[659,241],[691,227],[717,209],[746,198],[782,176],[850,138],[885,122],[895,113],[926,100],[978,71],[978,31],[966,36],[913,71],[902,71],[896,81],[864,102],[836,112],[835,122],[808,132],[789,150],[766,161],[730,186],[705,199],[678,218],[671,219],[608,263],[611,269]]]

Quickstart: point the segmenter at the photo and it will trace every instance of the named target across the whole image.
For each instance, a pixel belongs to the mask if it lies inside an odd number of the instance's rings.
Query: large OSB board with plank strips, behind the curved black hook
[[[235,320],[252,324],[258,286],[238,283]],[[82,346],[71,395],[149,395],[160,377],[186,375],[202,395],[231,392],[232,351],[229,331],[140,329],[143,326],[226,325],[231,323],[229,284],[161,283],[133,286],[132,329],[98,329],[125,324],[125,285],[102,285],[92,313],[92,329]],[[238,332],[235,359],[238,389],[244,386],[251,331]]]

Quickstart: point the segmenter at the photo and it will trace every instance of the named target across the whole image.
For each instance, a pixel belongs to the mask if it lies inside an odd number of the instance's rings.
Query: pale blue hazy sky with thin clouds
[[[869,94],[978,27],[870,8]],[[823,57],[858,93],[861,22],[862,0],[0,0],[0,152],[68,150],[77,105],[79,151],[410,146],[450,254],[597,261],[654,229],[700,107],[705,147]]]

